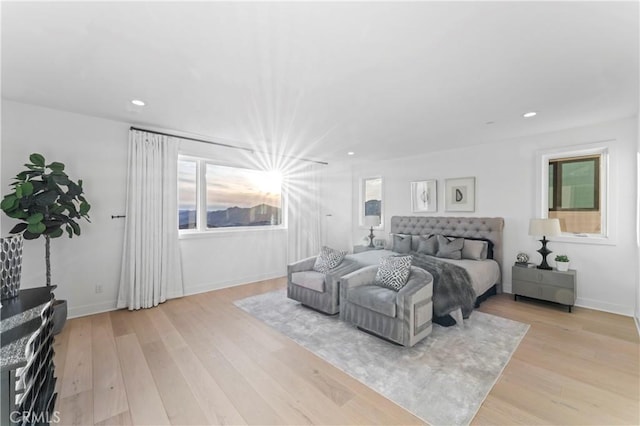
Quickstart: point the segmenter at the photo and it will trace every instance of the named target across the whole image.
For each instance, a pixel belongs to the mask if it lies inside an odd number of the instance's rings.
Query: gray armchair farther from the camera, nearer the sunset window
[[[351,259],[326,274],[313,270],[316,256],[287,265],[287,297],[329,315],[340,311],[340,277],[361,266]]]

